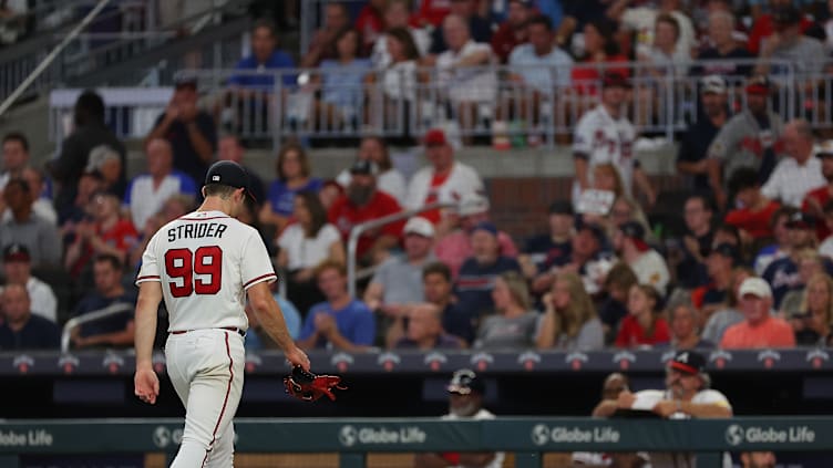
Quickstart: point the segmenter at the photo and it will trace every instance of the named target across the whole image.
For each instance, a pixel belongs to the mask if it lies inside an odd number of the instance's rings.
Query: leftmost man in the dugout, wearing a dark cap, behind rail
[[[449,391],[449,414],[445,420],[494,419],[494,414],[483,407],[486,384],[467,368],[461,368],[451,377]],[[503,451],[482,453],[423,453],[416,454],[414,466],[423,468],[482,467],[498,468],[503,466]]]

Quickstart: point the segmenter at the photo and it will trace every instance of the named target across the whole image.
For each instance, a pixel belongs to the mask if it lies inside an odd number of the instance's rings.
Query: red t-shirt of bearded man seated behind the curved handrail
[[[341,237],[344,242],[350,238],[350,230],[356,225],[371,219],[379,219],[383,216],[392,215],[394,212],[402,211],[402,207],[395,198],[390,195],[377,190],[370,201],[363,207],[357,207],[347,198],[347,195],[342,195],[332,202],[328,218],[330,222],[341,232]],[[402,228],[405,221],[400,220],[385,225],[380,229],[374,229],[364,232],[359,238],[359,245],[357,246],[357,256],[362,257],[368,250],[373,247],[377,238],[382,235],[393,236],[400,238],[402,235]]]

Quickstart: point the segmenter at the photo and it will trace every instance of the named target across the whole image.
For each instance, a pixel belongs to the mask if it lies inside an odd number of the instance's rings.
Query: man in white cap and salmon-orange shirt
[[[784,320],[772,316],[772,289],[761,278],[747,278],[738,290],[738,302],[747,319],[729,326],[722,349],[794,347],[795,334]]]

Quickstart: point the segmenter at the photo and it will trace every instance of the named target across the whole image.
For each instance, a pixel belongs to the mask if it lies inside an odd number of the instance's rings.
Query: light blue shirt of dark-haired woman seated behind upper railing
[[[370,71],[370,60],[356,59],[347,65],[338,60],[325,60],[319,70],[323,80],[321,100],[342,110],[358,111],[364,97],[362,81]]]

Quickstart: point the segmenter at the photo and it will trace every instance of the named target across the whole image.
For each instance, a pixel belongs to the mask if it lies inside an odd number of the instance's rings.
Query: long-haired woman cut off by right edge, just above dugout
[[[808,280],[801,313],[793,315],[795,343],[804,346],[827,345],[833,321],[833,279],[815,273]]]

